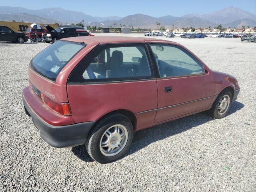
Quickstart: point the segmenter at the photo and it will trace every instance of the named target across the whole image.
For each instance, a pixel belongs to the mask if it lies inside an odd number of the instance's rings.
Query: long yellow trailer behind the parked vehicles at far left
[[[27,28],[31,28],[30,25],[32,23],[25,23],[25,22],[11,22],[11,21],[0,21],[0,25],[4,25],[7,26],[9,28],[11,28],[12,30],[14,30],[15,32],[26,32]],[[42,27],[43,23],[39,23]],[[46,25],[50,25],[52,28],[56,29],[57,27],[59,27],[59,25],[56,24],[46,24]]]

